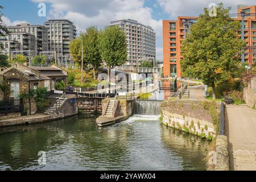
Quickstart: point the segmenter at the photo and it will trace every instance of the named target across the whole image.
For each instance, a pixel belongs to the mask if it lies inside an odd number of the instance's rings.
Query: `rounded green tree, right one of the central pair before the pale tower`
[[[118,26],[106,27],[98,36],[98,49],[101,59],[108,67],[108,82],[110,82],[110,69],[127,61],[125,32]]]

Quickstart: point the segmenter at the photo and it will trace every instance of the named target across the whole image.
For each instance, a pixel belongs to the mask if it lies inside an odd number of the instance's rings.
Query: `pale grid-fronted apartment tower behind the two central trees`
[[[132,19],[122,19],[110,22],[109,26],[119,26],[127,36],[127,63],[136,66],[141,60],[156,58],[155,32],[150,26],[145,26]]]

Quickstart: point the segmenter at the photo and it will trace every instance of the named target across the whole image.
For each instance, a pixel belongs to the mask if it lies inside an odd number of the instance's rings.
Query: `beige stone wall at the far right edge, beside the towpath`
[[[256,77],[252,78],[246,88],[243,89],[243,99],[247,106],[256,106]]]

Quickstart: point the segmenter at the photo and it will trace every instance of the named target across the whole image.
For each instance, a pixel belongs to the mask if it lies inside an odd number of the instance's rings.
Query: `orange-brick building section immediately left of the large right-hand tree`
[[[178,16],[177,20],[163,20],[163,72],[164,76],[181,76],[181,40],[184,39],[184,22],[194,16]]]

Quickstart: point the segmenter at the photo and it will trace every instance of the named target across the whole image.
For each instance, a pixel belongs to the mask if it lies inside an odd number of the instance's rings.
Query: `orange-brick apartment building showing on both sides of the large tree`
[[[238,6],[236,20],[241,21],[241,11],[245,11],[245,62],[252,67],[256,64],[256,6]],[[249,14],[250,13],[250,14]],[[195,16],[178,16],[177,20],[163,20],[163,62],[164,76],[181,76],[180,60],[181,40],[184,39],[184,27],[187,20],[197,19]],[[241,37],[241,31],[238,32]]]

